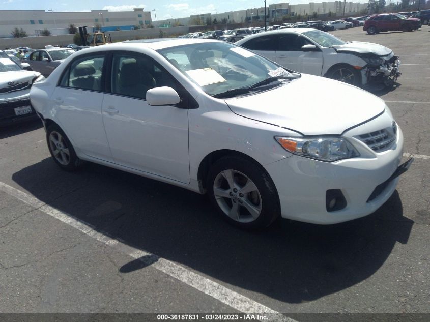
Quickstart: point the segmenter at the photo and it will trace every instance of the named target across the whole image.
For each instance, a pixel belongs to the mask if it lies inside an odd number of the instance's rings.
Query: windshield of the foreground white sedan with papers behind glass
[[[158,52],[212,96],[248,89],[270,77],[290,75],[290,72],[266,58],[226,42],[194,43],[160,49]],[[279,86],[281,82],[265,85]]]

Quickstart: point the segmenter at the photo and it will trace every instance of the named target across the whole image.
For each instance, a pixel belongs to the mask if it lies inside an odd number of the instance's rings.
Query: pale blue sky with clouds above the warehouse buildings
[[[354,2],[366,3],[367,0],[352,0]],[[268,0],[267,4],[281,3],[279,0]],[[291,0],[285,1],[290,5],[308,3],[308,0]],[[322,2],[313,0],[313,2]],[[54,10],[54,11],[91,11],[91,10],[109,10],[109,11],[131,11],[133,8],[144,8],[145,11],[155,9],[157,20],[167,18],[189,17],[193,14],[212,13],[215,9],[218,13],[225,11],[242,10],[247,8],[258,8],[264,6],[263,0],[59,0],[52,2],[47,0],[28,1],[28,0],[0,0],[1,10]],[[152,19],[155,20],[152,11]]]

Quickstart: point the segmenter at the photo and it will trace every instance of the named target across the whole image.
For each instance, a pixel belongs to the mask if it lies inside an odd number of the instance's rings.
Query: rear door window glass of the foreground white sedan
[[[72,62],[64,73],[60,86],[101,91],[104,56],[84,57]]]

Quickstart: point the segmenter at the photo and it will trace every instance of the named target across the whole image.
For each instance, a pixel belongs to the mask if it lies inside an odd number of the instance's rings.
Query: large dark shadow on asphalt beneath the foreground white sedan
[[[403,216],[397,192],[374,214],[347,223],[278,220],[267,230],[250,232],[226,223],[206,196],[92,163],[70,173],[48,158],[12,179],[112,238],[229,288],[287,303],[317,300],[367,279],[381,268],[396,242],[408,242],[413,225]],[[120,273],[148,265],[150,260],[142,264],[130,259]]]

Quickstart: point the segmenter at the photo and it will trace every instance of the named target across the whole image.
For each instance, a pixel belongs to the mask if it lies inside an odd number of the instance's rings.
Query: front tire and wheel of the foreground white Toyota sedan
[[[217,160],[209,170],[207,187],[221,216],[240,228],[262,229],[280,216],[273,181],[260,165],[243,157]]]

